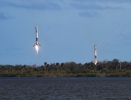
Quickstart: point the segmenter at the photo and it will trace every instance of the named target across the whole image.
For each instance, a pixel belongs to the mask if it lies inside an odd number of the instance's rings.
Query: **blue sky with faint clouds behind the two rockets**
[[[39,53],[36,53],[38,26]],[[0,0],[0,64],[131,61],[131,0]]]

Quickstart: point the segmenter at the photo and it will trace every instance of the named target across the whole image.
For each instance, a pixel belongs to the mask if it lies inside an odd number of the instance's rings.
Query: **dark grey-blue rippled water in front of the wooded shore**
[[[0,100],[131,100],[131,78],[4,77]]]

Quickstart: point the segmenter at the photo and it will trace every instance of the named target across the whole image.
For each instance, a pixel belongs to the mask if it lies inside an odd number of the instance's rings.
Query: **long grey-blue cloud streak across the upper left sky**
[[[4,7],[15,7],[23,9],[33,9],[33,10],[60,10],[61,7],[54,2],[28,2],[28,4],[18,4],[13,2],[0,2]]]

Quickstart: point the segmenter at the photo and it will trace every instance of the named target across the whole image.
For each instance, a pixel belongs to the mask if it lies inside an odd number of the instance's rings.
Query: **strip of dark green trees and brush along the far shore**
[[[41,66],[35,65],[0,65],[1,77],[44,77],[44,76],[131,76],[131,62],[120,62],[118,59],[102,61],[94,65],[93,62],[81,64],[75,62],[52,63],[45,62]]]

